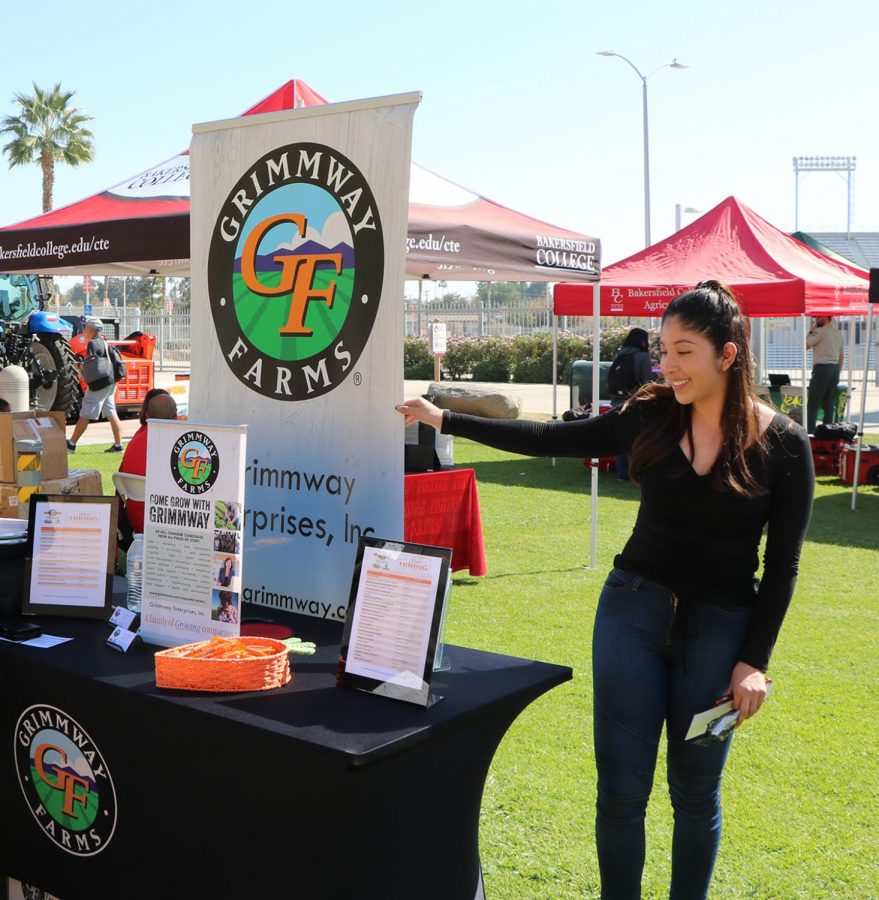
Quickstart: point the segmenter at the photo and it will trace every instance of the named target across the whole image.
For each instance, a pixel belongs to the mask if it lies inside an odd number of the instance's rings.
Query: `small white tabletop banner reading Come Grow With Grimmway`
[[[151,419],[140,633],[174,647],[241,631],[246,428]]]

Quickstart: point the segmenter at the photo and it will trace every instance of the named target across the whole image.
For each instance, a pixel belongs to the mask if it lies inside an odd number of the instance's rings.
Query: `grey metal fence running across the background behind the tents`
[[[120,337],[126,337],[133,331],[144,331],[156,335],[155,363],[159,372],[187,371],[190,365],[190,348],[192,333],[189,313],[161,312],[141,313],[135,306],[118,307],[107,310],[106,307],[95,307],[95,314],[112,315],[119,319]],[[68,305],[61,309],[64,315],[82,315],[82,307]],[[548,308],[530,306],[483,306],[466,304],[460,307],[433,309],[425,308],[417,303],[406,301],[405,333],[407,335],[426,334],[427,326],[433,321],[445,322],[449,336],[479,337],[515,337],[520,334],[547,332],[552,329],[552,311]],[[631,319],[628,324],[643,324],[644,319]],[[651,320],[658,324],[659,320]],[[627,324],[620,318],[603,319],[607,325]],[[757,319],[754,328],[755,355],[764,362],[766,372],[791,372],[796,374],[803,368],[802,334],[799,318]],[[846,366],[849,360],[849,328],[855,329],[853,369],[864,371],[864,354],[866,352],[864,319],[855,320],[841,318],[837,324],[842,331],[846,352]],[[592,319],[587,317],[562,316],[559,327],[563,331],[577,334],[591,334]],[[765,352],[759,352],[759,343],[765,342]],[[869,371],[872,380],[879,384],[879,323],[874,326],[873,339],[870,342]],[[806,354],[806,369],[811,369],[812,353]]]

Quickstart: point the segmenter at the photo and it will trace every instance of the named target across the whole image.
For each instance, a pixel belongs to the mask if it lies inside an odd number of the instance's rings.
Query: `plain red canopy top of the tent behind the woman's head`
[[[660,316],[697,282],[729,285],[749,316],[864,315],[867,275],[800,243],[735,197],[601,273],[601,314]],[[592,291],[558,284],[560,316],[592,315]]]

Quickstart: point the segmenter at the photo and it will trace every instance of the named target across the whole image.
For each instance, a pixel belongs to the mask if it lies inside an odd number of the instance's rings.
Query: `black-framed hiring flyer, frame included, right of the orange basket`
[[[452,551],[362,537],[339,659],[339,685],[430,706]]]

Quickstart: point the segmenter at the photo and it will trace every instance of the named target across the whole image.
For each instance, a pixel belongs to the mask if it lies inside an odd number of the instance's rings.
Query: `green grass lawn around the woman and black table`
[[[867,443],[879,443],[868,435]],[[601,583],[638,502],[600,476],[598,571],[582,463],[456,440],[477,471],[489,574],[454,579],[450,643],[571,666],[574,680],[515,722],[489,773],[480,844],[490,898],[598,897],[590,634]],[[119,457],[83,446],[105,492]],[[879,897],[879,489],[818,479],[800,580],[772,659],[776,690],[735,738],[713,898]],[[644,897],[668,895],[671,810],[660,762]]]

